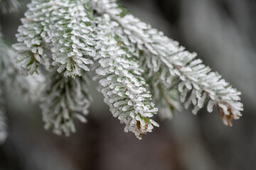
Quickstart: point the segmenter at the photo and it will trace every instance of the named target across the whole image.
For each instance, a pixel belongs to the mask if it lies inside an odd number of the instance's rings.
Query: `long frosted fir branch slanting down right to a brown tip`
[[[96,8],[99,13],[109,13],[112,20],[117,21],[124,29],[129,40],[136,43],[139,50],[146,54],[142,57],[146,57],[147,63],[154,66],[147,69],[157,72],[164,67],[166,82],[173,77],[179,77],[181,83],[178,84],[178,89],[181,92],[181,101],[185,101],[186,94],[191,91],[185,106],[188,108],[192,102],[195,106],[194,114],[209,99],[208,111],[212,111],[213,104],[217,106],[225,125],[232,125],[230,120],[241,116],[240,111],[243,108],[242,103],[239,102],[240,92],[221,79],[219,74],[211,72],[209,67],[201,64],[201,60],[195,60],[195,53],[184,50],[178,42],[167,38],[164,33],[151,28],[149,24],[135,18],[131,13],[121,15],[123,10],[115,0],[97,1]]]

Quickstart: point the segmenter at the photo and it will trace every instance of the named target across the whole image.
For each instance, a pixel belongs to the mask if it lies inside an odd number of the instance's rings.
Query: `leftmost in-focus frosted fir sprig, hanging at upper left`
[[[50,13],[53,11],[54,1],[36,1],[28,4],[26,18],[21,18],[22,25],[18,27],[16,34],[18,43],[13,47],[19,53],[17,60],[28,74],[37,72],[39,64],[50,69],[50,62],[46,55],[44,44],[50,42],[48,37],[48,26],[44,22],[50,20]]]

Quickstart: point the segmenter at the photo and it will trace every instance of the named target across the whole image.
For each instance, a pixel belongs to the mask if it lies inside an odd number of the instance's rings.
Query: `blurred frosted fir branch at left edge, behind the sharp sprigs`
[[[25,77],[21,69],[15,64],[16,52],[8,45],[0,33],[0,80],[9,89],[30,101],[38,101],[43,90],[44,77],[34,74]]]

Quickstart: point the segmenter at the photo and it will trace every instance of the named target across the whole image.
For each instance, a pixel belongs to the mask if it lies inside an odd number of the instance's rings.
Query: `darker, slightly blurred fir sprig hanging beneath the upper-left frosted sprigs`
[[[57,135],[75,132],[74,119],[86,123],[90,95],[87,93],[88,79],[85,74],[75,79],[53,72],[46,82],[41,101],[45,128],[52,128]]]

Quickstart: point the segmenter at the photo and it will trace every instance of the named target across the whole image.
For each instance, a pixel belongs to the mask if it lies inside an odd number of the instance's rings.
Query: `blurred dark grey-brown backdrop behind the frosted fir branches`
[[[26,11],[1,16],[11,42]],[[239,91],[245,111],[233,127],[215,110],[194,116],[183,109],[143,140],[123,132],[92,84],[88,123],[60,137],[43,129],[36,103],[6,92],[9,137],[0,146],[0,170],[205,170],[256,167],[256,1],[122,0],[135,16],[163,30],[187,50],[198,52]],[[156,118],[157,119],[157,118]]]

